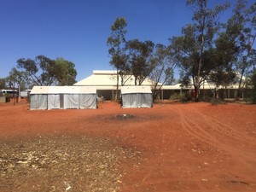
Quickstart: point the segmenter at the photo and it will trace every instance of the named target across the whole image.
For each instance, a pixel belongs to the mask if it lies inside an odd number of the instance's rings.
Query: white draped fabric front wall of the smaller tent
[[[152,108],[152,94],[123,94],[122,103],[122,108]]]

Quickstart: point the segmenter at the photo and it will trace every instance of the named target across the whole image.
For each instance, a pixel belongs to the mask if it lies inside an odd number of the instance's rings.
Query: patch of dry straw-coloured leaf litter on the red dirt
[[[140,152],[110,138],[44,136],[0,140],[0,191],[119,191],[125,160]]]

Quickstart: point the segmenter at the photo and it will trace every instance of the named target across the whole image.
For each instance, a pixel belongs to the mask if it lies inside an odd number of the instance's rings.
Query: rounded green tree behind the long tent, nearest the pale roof
[[[73,85],[76,83],[77,71],[71,61],[59,57],[55,60],[55,78],[58,85]]]

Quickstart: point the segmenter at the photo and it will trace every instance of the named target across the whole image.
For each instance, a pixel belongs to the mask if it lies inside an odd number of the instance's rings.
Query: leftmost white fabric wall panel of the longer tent
[[[47,109],[47,95],[31,95],[30,109]]]

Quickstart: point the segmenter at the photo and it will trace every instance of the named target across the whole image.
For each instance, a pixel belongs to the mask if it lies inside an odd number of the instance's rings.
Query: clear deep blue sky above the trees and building
[[[72,61],[79,81],[93,70],[113,69],[107,39],[116,18],[127,20],[127,40],[167,45],[191,16],[185,0],[0,0],[0,78],[18,59],[45,55]]]

